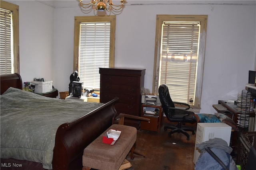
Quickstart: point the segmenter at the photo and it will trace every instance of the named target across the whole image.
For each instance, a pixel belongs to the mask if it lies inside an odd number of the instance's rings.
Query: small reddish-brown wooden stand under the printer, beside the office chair
[[[153,108],[159,109],[159,113],[158,114],[146,113],[144,110],[144,107],[153,107]],[[162,104],[142,104],[141,117],[150,119],[150,122],[141,121],[140,122],[140,130],[156,131],[157,133],[159,133],[160,127],[162,127],[163,122],[164,122],[164,114],[162,111]]]

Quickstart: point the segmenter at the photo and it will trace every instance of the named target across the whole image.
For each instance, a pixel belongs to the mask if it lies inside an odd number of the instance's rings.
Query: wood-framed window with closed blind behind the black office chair
[[[200,109],[207,16],[157,15],[153,91],[169,88],[172,100]]]

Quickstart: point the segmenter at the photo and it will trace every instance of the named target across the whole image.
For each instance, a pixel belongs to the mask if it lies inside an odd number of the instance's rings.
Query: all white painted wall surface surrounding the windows
[[[52,8],[34,1],[12,2],[20,5],[20,73],[23,80],[52,78],[59,92],[68,91],[69,76],[73,72],[74,16],[94,13],[82,12],[78,4],[70,8]],[[116,16],[116,67],[146,68],[144,86],[151,90],[156,15],[208,15],[200,113],[214,113],[212,104],[217,104],[218,100],[236,99],[248,82],[248,70],[255,68],[255,3],[238,5],[228,1],[232,4],[227,5],[200,1],[200,4],[193,4],[189,1],[179,4],[166,0],[165,5],[130,5],[136,1],[128,2]],[[40,35],[36,35],[36,31]]]

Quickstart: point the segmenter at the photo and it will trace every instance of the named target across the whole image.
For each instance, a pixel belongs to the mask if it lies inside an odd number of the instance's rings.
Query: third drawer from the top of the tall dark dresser
[[[118,97],[118,103],[124,104],[134,104],[138,103],[139,98],[137,95],[128,95],[128,94],[116,94],[116,93],[103,93],[100,95],[100,101],[102,103],[107,103],[112,100],[114,97]]]

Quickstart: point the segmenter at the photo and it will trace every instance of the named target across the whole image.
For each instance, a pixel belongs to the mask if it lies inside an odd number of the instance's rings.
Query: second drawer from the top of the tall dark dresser
[[[103,94],[108,93],[118,93],[118,94],[138,94],[140,89],[136,86],[124,86],[124,85],[116,85],[116,84],[102,84],[100,86],[100,93]],[[139,97],[139,96],[138,96]]]

